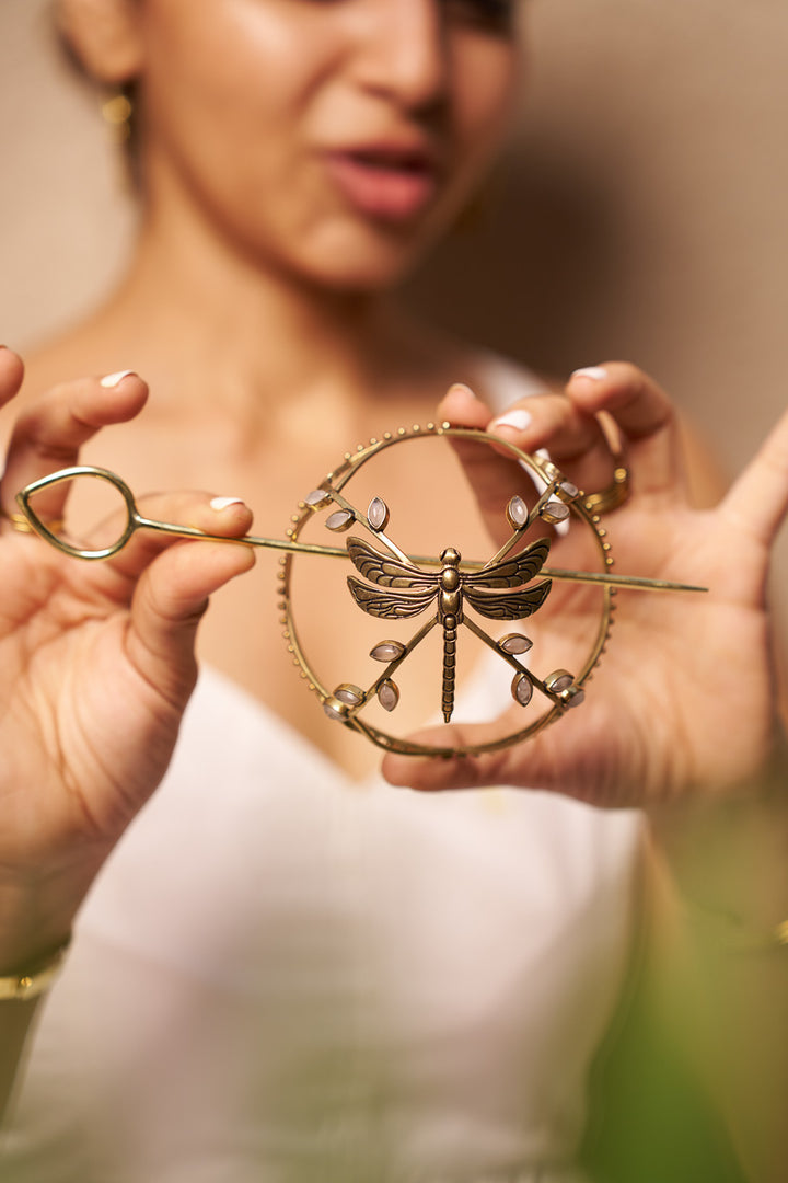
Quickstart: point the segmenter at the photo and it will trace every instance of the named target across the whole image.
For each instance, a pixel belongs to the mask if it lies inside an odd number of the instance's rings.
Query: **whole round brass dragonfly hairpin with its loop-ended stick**
[[[372,498],[367,510],[363,511],[344,496],[347,483],[380,452],[397,444],[413,444],[441,437],[464,442],[473,441],[486,447],[495,444],[499,451],[508,453],[519,463],[535,486],[535,500],[530,509],[519,494],[510,498],[506,516],[512,534],[487,562],[465,561],[454,547],[444,548],[438,557],[408,555],[386,534],[390,511],[382,497]],[[80,544],[61,529],[61,523],[56,524],[35,512],[37,493],[53,485],[73,483],[83,478],[109,483],[121,496],[124,521],[117,536],[109,544],[92,548]],[[17,503],[20,512],[12,518],[14,529],[33,531],[63,554],[77,558],[111,558],[130,542],[137,530],[154,530],[180,538],[202,538],[282,551],[278,569],[280,623],[284,626],[284,636],[293,664],[299,667],[301,678],[318,696],[325,713],[331,719],[365,735],[380,748],[405,755],[456,756],[494,751],[528,738],[560,718],[568,707],[582,702],[585,684],[590,680],[611,632],[614,597],[619,590],[703,590],[664,580],[613,574],[611,544],[607,531],[595,512],[593,497],[586,497],[549,460],[522,452],[510,441],[494,438],[487,432],[452,427],[450,424],[426,424],[425,427],[413,425],[411,429],[400,427],[396,432],[385,432],[382,438],[375,438],[369,444],[359,444],[354,452],[346,452],[339,466],[299,504],[284,538],[253,535],[227,538],[191,526],[148,518],[139,512],[125,481],[106,468],[86,465],[64,468],[33,481],[17,494]],[[343,534],[356,524],[371,534],[377,545],[357,536],[349,537],[345,547],[301,541],[301,531],[324,510],[330,511],[325,518],[325,525],[330,531]],[[575,524],[590,529],[600,570],[566,570],[546,565],[551,545],[548,538],[543,537],[545,525],[561,529]],[[525,536],[534,526],[540,528],[542,536],[528,543]],[[370,657],[382,662],[385,668],[373,678],[366,690],[352,683],[340,683],[331,690],[323,684],[312,667],[300,640],[293,609],[292,580],[299,555],[349,560],[362,576],[347,577],[350,594],[354,603],[373,618],[400,621],[419,616],[431,609],[428,619],[409,641],[384,639],[372,648]],[[497,621],[527,620],[542,607],[553,583],[561,580],[599,588],[599,619],[595,634],[590,638],[588,651],[585,658],[579,660],[578,668],[573,673],[559,668],[540,678],[522,660],[532,648],[530,638],[521,632],[495,638],[474,619],[473,614]],[[451,739],[444,744],[423,744],[393,736],[370,722],[364,716],[364,710],[373,702],[386,712],[395,710],[399,702],[399,687],[393,674],[434,628],[441,629],[443,640],[441,710],[445,723],[451,719],[455,706],[461,628],[470,631],[514,670],[510,690],[520,706],[527,707],[534,697],[534,691],[539,691],[546,709],[535,718],[527,719],[523,726],[476,744],[458,744]]]

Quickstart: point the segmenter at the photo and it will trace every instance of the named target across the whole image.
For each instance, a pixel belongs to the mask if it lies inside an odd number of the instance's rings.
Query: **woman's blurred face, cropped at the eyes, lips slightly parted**
[[[506,127],[516,0],[137,0],[151,208],[253,261],[396,280]]]

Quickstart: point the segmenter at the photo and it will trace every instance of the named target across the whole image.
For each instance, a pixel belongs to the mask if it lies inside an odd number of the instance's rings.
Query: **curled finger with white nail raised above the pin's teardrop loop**
[[[130,370],[54,387],[20,415],[8,446],[0,504],[14,512],[17,492],[40,477],[77,464],[79,448],[102,427],[142,411],[148,387]],[[69,489],[56,485],[37,498],[41,517],[63,517]]]

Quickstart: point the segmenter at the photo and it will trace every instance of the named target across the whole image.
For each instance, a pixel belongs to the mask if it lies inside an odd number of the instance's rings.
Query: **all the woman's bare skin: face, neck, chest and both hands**
[[[142,230],[117,292],[32,360],[21,393],[21,363],[0,350],[6,512],[21,485],[79,454],[116,468],[136,491],[211,490],[157,494],[144,503],[152,516],[240,536],[252,524],[247,504],[259,505],[261,531],[274,532],[269,523],[287,521],[349,441],[434,418],[457,376],[477,384],[480,397],[452,388],[437,415],[495,427],[483,383],[475,383],[475,355],[410,323],[390,290],[445,230],[506,127],[520,70],[508,35],[470,20],[473,5],[434,0],[64,0],[61,11],[90,72],[138,80]],[[319,163],[324,147],[337,147],[337,127],[352,131],[351,146],[419,137],[444,163],[434,199],[396,225],[356,208]],[[78,376],[123,366],[145,380],[131,374],[106,388]],[[599,806],[644,806],[679,891],[702,892],[711,910],[735,905],[749,926],[768,931],[788,912],[786,806],[774,791],[780,778],[770,780],[780,732],[764,603],[769,548],[788,502],[788,418],[731,494],[701,511],[686,499],[675,411],[634,367],[606,363],[601,379],[573,377],[528,400],[528,411],[532,425],[512,438],[527,450],[548,446],[586,489],[610,480],[595,414],[612,414],[633,470],[632,497],[610,519],[619,569],[710,592],[691,605],[632,597],[625,607],[621,597],[588,703],[533,743],[480,759],[386,758],[384,772],[423,790],[539,783]],[[493,453],[463,459],[481,521],[462,549],[489,554],[482,526],[495,537],[501,494],[508,499],[520,478]],[[438,486],[443,479],[437,471]],[[247,504],[215,510],[213,492]],[[406,483],[398,492],[398,521],[410,526],[422,503],[409,500]],[[46,505],[52,515],[61,509],[54,499]],[[448,517],[447,537],[460,537],[461,517]],[[249,629],[266,613],[275,619],[275,599],[246,575],[253,556],[242,548],[138,538],[110,563],[85,567],[4,522],[0,551],[5,971],[63,939],[103,860],[155,790],[194,686],[198,625],[201,659],[275,705],[351,775],[377,761],[369,745],[305,710],[274,631]],[[584,596],[551,595],[540,613],[547,627],[556,609],[560,627],[569,613],[572,632],[584,634]],[[327,619],[333,610],[328,595]],[[325,629],[315,664],[338,660],[337,632]],[[710,693],[731,649],[747,662],[725,694]],[[688,651],[697,658],[689,675]],[[428,717],[431,697],[416,709]],[[719,853],[702,883],[686,855],[698,834],[711,834]],[[768,890],[745,873],[754,852],[769,868]],[[777,1015],[779,1029],[784,1010],[771,1000],[784,997],[784,983],[775,989],[762,964],[753,972],[768,982],[748,980],[736,998],[755,998]],[[738,1021],[737,1002],[719,1004],[724,1030]],[[32,1008],[5,1009],[7,1046],[19,1048]],[[763,1048],[753,1046],[751,1061],[727,1074],[744,1093],[763,1067]],[[12,1072],[8,1061],[8,1079]],[[723,1098],[734,1113],[740,1100]],[[754,1119],[741,1134],[753,1159],[751,1146],[773,1146],[779,1125],[774,1105],[761,1111],[761,1126]],[[770,1177],[768,1163],[757,1170],[754,1177]]]

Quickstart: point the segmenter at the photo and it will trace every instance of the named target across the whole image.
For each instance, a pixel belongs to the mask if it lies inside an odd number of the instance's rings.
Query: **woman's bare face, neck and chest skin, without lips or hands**
[[[410,323],[390,290],[483,172],[510,117],[520,50],[471,19],[474,5],[431,0],[98,8],[133,18],[113,26],[100,62],[143,78],[142,233],[119,290],[33,358],[26,390],[126,358],[154,390],[145,416],[87,458],[136,490],[210,481],[259,508],[260,529],[274,532],[349,440],[429,419],[456,374],[474,373],[467,349]],[[92,62],[96,5],[64,11]],[[434,199],[397,222],[366,216],[332,182],[323,149],[400,140],[443,162]],[[417,521],[404,493],[402,516]],[[481,530],[470,544],[484,544]],[[201,655],[352,775],[369,772],[375,752],[305,711],[275,631],[250,639],[249,621],[279,615],[271,578],[215,607]],[[315,661],[336,666],[343,645],[325,631]]]

